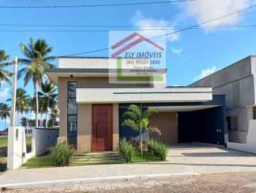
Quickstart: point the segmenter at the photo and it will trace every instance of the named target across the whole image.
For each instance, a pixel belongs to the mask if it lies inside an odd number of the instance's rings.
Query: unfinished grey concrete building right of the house
[[[256,56],[248,56],[189,86],[212,86],[214,95],[225,95],[228,141],[246,143],[250,120],[255,120]]]

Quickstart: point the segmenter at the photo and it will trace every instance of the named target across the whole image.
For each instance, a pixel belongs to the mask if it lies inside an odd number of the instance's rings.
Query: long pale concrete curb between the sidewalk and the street
[[[132,176],[108,176],[98,178],[78,178],[68,180],[47,180],[47,181],[33,181],[26,183],[9,183],[0,185],[1,189],[27,189],[34,187],[47,187],[52,185],[70,185],[77,183],[96,183],[106,181],[127,181],[127,180],[148,180],[157,178],[177,178],[177,177],[189,177],[200,176],[198,173],[172,173],[172,174],[145,174],[145,175],[132,175]],[[0,190],[1,192],[1,190]]]

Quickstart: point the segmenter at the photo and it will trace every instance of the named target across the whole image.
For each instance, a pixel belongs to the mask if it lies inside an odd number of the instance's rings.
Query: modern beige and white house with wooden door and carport
[[[115,59],[113,59],[115,61]],[[121,127],[129,104],[157,108],[150,116],[150,138],[167,144],[198,141],[225,144],[225,96],[211,86],[168,87],[164,84],[110,84],[109,58],[59,58],[59,68],[45,69],[58,85],[59,141],[77,151],[115,150],[122,137],[138,133]],[[112,69],[115,70],[115,69]]]

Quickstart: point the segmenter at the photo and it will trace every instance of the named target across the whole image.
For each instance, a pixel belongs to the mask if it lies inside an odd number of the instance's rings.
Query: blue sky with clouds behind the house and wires
[[[56,6],[84,4],[116,4],[157,2],[159,0],[1,0],[0,6]],[[28,43],[29,37],[44,38],[53,47],[52,56],[109,47],[107,32],[22,32],[10,30],[122,30],[156,29],[150,26],[194,26],[202,22],[243,10],[256,4],[255,0],[198,0],[164,4],[132,6],[100,6],[82,8],[0,8],[0,49],[10,56],[23,58],[19,43]],[[215,20],[205,26],[256,25],[256,8]],[[2,24],[77,25],[77,26],[138,26],[125,27],[28,27]],[[145,27],[147,26],[147,27]],[[7,31],[6,31],[7,30]],[[9,30],[9,31],[8,31]],[[167,33],[175,31],[168,29]],[[232,29],[189,29],[167,36],[166,68],[168,86],[187,86],[216,70],[231,65],[246,56],[256,54],[256,27]],[[109,56],[108,50],[80,56]],[[54,61],[58,66],[58,61]],[[21,66],[19,66],[21,68]],[[12,67],[8,67],[12,70]],[[18,88],[24,88],[22,79]],[[33,86],[26,91],[33,95]],[[10,98],[11,88],[2,82],[0,102]],[[10,121],[8,121],[9,124]],[[0,130],[4,122],[0,121]]]

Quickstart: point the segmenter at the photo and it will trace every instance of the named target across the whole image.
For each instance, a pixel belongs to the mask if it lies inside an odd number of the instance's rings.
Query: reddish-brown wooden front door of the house
[[[112,150],[113,106],[92,106],[92,151]]]

